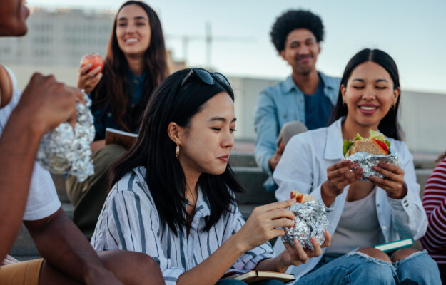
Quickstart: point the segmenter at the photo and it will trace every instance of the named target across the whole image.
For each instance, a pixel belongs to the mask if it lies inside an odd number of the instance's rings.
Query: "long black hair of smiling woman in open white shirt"
[[[400,75],[398,73],[397,64],[395,63],[393,58],[384,51],[381,51],[379,49],[372,50],[370,48],[365,48],[362,51],[356,53],[355,56],[353,56],[353,58],[348,61],[347,66],[345,66],[343,78],[340,81],[340,85],[346,88],[348,78],[350,78],[353,69],[367,61],[372,61],[382,66],[382,68],[384,68],[390,74],[390,78],[392,78],[393,89],[396,90],[397,88],[400,88]],[[380,125],[378,125],[381,133],[389,138],[394,138],[395,140],[401,139],[400,124],[398,123],[397,118],[398,108],[400,106],[400,98],[401,94],[397,98],[395,108],[390,108],[389,112],[387,112],[385,117],[382,118],[382,120],[380,121]],[[331,115],[330,121],[328,122],[328,125],[335,122],[335,120],[346,116],[347,113],[347,105],[343,105],[343,95],[339,90],[338,102],[333,109],[333,113]]]

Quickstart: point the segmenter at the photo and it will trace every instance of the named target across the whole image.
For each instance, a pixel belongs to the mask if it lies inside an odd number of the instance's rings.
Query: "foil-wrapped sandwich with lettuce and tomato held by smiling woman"
[[[385,139],[384,134],[375,130],[370,130],[369,133],[369,138],[357,134],[355,140],[344,140],[343,145],[345,159],[358,162],[359,167],[363,168],[363,178],[360,180],[367,180],[370,176],[385,178],[380,172],[372,169],[372,166],[380,162],[400,166],[397,152],[390,148],[390,142]]]

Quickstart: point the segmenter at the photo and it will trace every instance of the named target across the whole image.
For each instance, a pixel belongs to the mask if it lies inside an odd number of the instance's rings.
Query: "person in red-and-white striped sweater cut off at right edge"
[[[442,284],[446,284],[446,152],[427,180],[422,205],[429,226],[421,242],[430,257],[437,261]]]

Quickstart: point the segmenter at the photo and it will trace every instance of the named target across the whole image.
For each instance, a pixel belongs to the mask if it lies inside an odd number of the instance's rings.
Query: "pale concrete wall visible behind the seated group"
[[[76,85],[77,68],[66,66],[9,65],[16,73],[19,88],[34,71],[52,73],[69,85]],[[253,112],[258,94],[278,81],[262,78],[228,77],[235,92],[235,116],[239,140],[254,140]],[[412,152],[439,153],[446,150],[446,94],[402,91],[400,122]]]

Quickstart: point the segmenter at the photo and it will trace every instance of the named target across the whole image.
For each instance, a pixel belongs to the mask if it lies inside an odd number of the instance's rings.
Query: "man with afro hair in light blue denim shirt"
[[[315,68],[324,37],[318,15],[286,11],[273,24],[270,36],[292,73],[285,81],[265,88],[255,106],[255,160],[270,175],[264,184],[268,192],[277,189],[272,173],[288,140],[327,125],[340,85],[340,78],[325,76]]]

